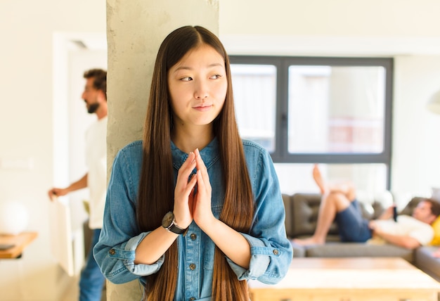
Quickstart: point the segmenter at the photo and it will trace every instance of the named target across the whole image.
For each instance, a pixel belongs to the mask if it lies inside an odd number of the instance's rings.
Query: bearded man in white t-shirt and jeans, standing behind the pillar
[[[98,242],[103,227],[107,190],[107,72],[101,69],[87,70],[84,72],[84,78],[86,86],[82,99],[86,103],[87,111],[98,117],[98,120],[91,124],[86,132],[88,172],[65,188],[51,188],[48,195],[52,200],[54,196],[65,196],[72,191],[89,188],[89,227],[93,231],[93,237],[86,265],[79,278],[79,300],[99,301],[105,278],[93,258],[92,250]]]

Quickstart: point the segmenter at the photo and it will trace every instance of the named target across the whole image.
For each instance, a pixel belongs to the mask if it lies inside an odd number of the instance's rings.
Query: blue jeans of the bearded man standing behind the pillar
[[[91,248],[87,255],[86,265],[79,278],[79,301],[100,301],[105,278],[93,257],[93,247],[98,243],[101,229],[93,229]]]

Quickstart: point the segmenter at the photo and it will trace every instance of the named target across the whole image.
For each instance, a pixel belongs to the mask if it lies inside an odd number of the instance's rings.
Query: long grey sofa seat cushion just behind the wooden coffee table
[[[396,245],[325,243],[306,247],[306,257],[402,257],[413,262],[414,251]]]

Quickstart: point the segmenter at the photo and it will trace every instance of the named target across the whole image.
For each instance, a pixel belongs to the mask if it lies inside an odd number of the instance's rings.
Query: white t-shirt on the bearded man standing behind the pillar
[[[107,192],[107,116],[93,123],[86,132],[86,165],[89,168],[89,227],[103,228]]]

